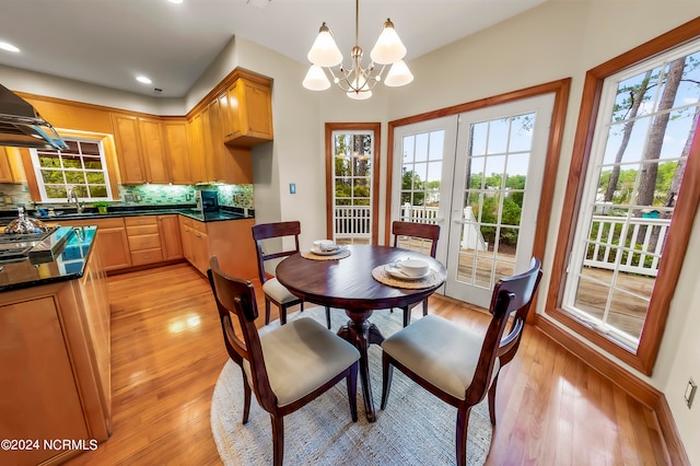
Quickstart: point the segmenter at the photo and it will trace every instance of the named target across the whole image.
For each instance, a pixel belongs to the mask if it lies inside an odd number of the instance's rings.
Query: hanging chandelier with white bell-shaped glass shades
[[[350,54],[350,68],[342,66],[342,54],[336,45],[330,28],[323,23],[318,36],[308,50],[311,68],[302,84],[311,91],[325,91],[330,88],[326,71],[350,98],[362,101],[372,96],[372,88],[382,81],[384,69],[389,66],[384,78],[384,84],[397,88],[413,81],[408,66],[404,61],[406,47],[396,34],[392,20],[386,20],[380,37],[370,53],[372,61],[366,68],[362,67],[362,47],[358,45],[360,30],[360,0],[355,0],[354,16],[354,47]],[[337,67],[337,68],[336,68]],[[334,71],[334,68],[336,70]]]

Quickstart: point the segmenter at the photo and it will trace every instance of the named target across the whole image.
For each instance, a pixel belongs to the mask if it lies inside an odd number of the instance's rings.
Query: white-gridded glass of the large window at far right
[[[698,126],[699,59],[669,54],[604,84],[563,308],[633,350]]]

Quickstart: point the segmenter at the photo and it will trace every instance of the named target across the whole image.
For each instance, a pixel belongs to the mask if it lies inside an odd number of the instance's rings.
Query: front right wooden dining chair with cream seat
[[[495,387],[500,370],[520,345],[525,319],[541,278],[540,261],[529,270],[495,283],[486,336],[477,335],[436,315],[399,330],[382,343],[382,409],[386,408],[394,368],[443,401],[457,408],[457,465],[467,462],[467,430],[471,407],[489,396],[495,426]],[[513,315],[509,331],[503,336]]]

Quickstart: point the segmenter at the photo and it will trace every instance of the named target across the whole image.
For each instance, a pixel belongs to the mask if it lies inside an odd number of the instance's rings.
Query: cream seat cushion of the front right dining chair
[[[382,350],[443,392],[465,399],[482,343],[482,335],[428,315],[384,340]],[[493,377],[499,368],[497,359]]]

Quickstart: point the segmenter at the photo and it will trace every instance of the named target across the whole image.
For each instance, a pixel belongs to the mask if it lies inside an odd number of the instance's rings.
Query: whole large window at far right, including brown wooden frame
[[[646,374],[699,200],[684,189],[700,163],[700,40],[688,42],[698,30],[686,26],[635,49],[650,58],[626,54],[586,75],[567,188],[575,201],[562,214],[562,273],[552,273],[547,306]]]

